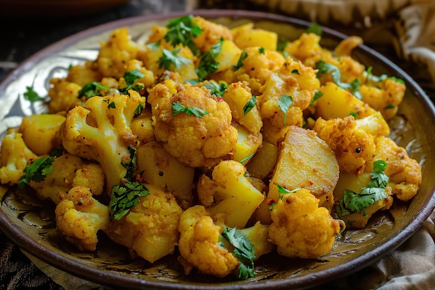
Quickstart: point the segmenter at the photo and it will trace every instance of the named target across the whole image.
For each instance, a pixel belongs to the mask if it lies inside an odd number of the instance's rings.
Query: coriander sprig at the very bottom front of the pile
[[[254,245],[249,241],[249,238],[235,227],[225,228],[222,231],[222,236],[233,245],[235,248],[233,253],[241,261],[237,277],[240,280],[254,277],[256,274],[254,269],[255,252]]]

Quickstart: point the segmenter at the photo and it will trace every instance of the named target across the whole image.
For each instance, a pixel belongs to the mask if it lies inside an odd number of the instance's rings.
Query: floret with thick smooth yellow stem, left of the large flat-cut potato
[[[224,214],[229,227],[245,227],[264,195],[245,177],[246,168],[233,160],[221,161],[213,168],[212,177],[199,177],[197,192],[199,201],[215,218]]]

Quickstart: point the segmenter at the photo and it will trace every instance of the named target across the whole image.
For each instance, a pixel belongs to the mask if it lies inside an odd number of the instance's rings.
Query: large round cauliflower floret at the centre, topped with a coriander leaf
[[[211,167],[223,159],[237,142],[237,129],[231,125],[231,110],[222,99],[213,97],[210,90],[200,86],[178,84],[176,93],[163,84],[149,92],[154,134],[165,143],[165,150],[181,163],[191,167]],[[204,110],[198,116],[177,111]],[[190,113],[190,112],[189,112]]]

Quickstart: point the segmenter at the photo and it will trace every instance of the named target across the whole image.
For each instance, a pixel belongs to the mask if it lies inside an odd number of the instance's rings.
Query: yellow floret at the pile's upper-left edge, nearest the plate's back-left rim
[[[126,28],[115,29],[107,42],[101,42],[97,60],[97,67],[103,76],[120,79],[126,72],[126,63],[135,59],[139,45],[131,40]]]

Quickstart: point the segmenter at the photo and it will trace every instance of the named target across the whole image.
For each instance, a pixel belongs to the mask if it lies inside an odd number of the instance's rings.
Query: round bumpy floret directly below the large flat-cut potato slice
[[[307,189],[286,193],[270,212],[269,238],[279,255],[318,258],[331,250],[340,223]]]

